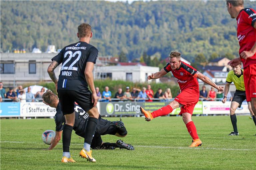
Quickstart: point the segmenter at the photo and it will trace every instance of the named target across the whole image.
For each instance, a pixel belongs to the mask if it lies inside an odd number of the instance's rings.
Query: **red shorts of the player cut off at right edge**
[[[244,86],[246,101],[250,102],[252,97],[256,97],[256,64],[244,68]]]

